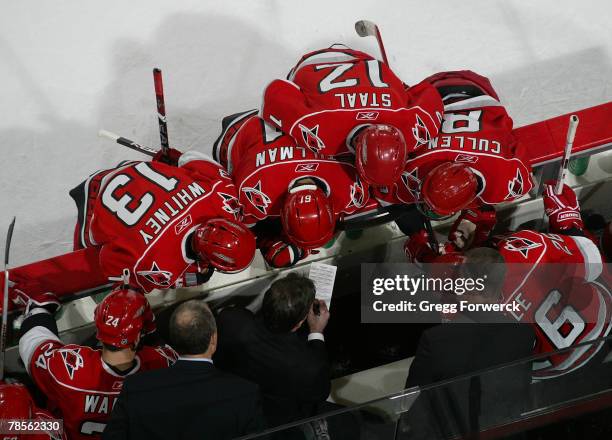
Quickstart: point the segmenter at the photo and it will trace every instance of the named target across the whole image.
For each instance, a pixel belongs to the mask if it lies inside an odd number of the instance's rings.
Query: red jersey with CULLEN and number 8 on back
[[[444,107],[441,133],[409,159],[400,182],[377,189],[383,203],[415,203],[421,198],[423,179],[443,162],[468,165],[478,176],[478,204],[514,201],[531,190],[531,169],[516,157],[512,119],[490,96],[479,96]]]

